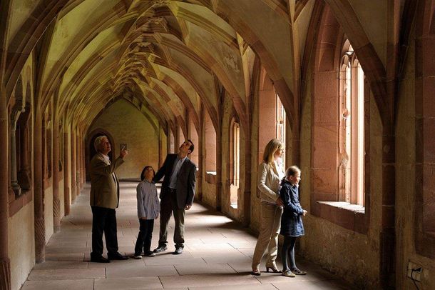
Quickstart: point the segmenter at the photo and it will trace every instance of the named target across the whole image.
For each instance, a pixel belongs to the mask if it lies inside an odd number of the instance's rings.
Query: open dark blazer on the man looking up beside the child
[[[170,194],[169,183],[170,174],[172,173],[177,154],[168,154],[166,156],[163,166],[158,169],[154,176],[154,181],[160,181],[163,176],[162,189],[160,191],[160,199],[167,198]],[[178,171],[177,176],[177,206],[178,209],[184,209],[186,205],[193,204],[193,198],[195,197],[195,184],[196,184],[196,165],[188,158],[185,159],[183,165]]]

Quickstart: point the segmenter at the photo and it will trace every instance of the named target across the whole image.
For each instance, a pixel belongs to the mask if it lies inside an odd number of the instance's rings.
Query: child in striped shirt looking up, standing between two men
[[[155,256],[151,251],[151,239],[153,237],[154,219],[158,218],[160,202],[157,188],[153,184],[155,171],[151,166],[145,166],[140,174],[140,183],[136,188],[138,199],[139,234],[135,245],[135,259],[142,259],[142,251],[145,256]]]

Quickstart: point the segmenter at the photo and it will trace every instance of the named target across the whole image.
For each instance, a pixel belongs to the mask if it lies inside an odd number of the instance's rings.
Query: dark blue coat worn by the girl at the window
[[[280,234],[283,236],[303,236],[305,231],[301,216],[304,211],[299,202],[299,187],[292,186],[286,180],[281,186],[280,196],[284,204]]]

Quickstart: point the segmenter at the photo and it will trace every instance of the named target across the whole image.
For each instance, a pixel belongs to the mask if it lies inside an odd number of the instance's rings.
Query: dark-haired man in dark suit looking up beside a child
[[[188,159],[195,146],[188,140],[181,144],[178,154],[168,154],[163,166],[155,174],[154,181],[163,179],[160,191],[160,239],[155,253],[168,247],[168,222],[172,213],[175,219],[173,254],[182,254],[184,249],[184,216],[193,204],[196,184],[196,165]]]

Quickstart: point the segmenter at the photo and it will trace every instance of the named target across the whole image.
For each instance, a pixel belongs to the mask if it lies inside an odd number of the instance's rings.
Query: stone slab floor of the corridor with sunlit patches
[[[121,183],[118,219],[118,244],[121,253],[131,256],[138,233],[135,183]],[[306,276],[287,278],[266,273],[251,276],[250,264],[255,236],[216,211],[194,204],[185,218],[185,251],[168,251],[155,257],[110,264],[90,263],[91,208],[89,186],[62,219],[61,231],[51,236],[46,246],[46,262],[37,264],[22,287],[33,289],[352,289],[319,266],[297,259]],[[153,247],[158,241],[158,221],[153,232]],[[173,219],[169,236],[173,235]],[[281,265],[280,265],[281,267]]]

